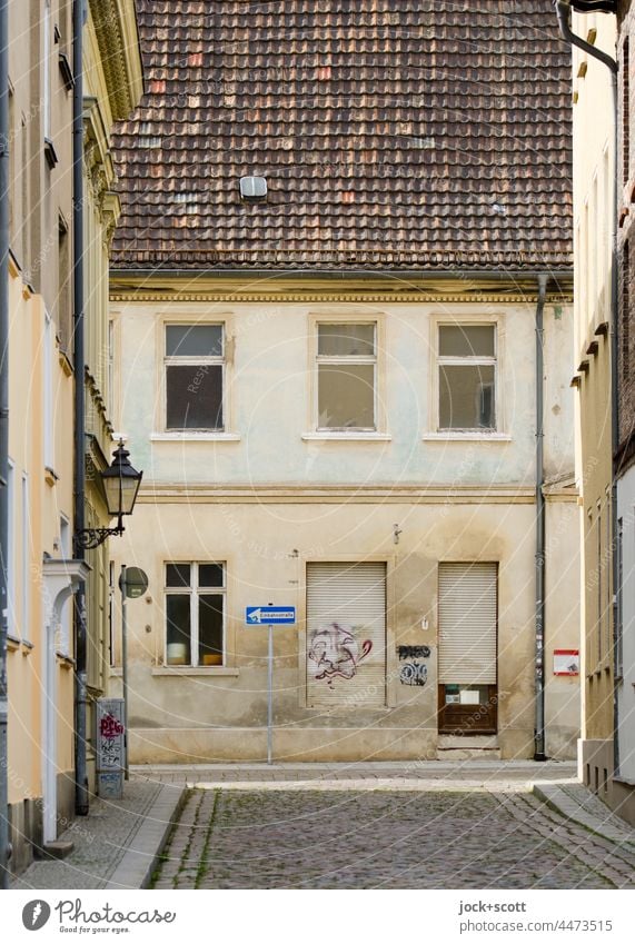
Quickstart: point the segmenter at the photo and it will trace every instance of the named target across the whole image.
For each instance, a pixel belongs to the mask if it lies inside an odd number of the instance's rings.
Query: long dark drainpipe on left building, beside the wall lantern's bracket
[[[72,11],[72,231],[73,231],[73,339],[75,339],[75,534],[86,527],[85,496],[85,344],[83,344],[83,21],[85,0],[75,0]],[[76,560],[85,560],[86,552],[75,543]],[[76,704],[75,704],[75,812],[88,815],[88,775],[86,762],[87,716],[87,626],[86,583],[75,597]]]

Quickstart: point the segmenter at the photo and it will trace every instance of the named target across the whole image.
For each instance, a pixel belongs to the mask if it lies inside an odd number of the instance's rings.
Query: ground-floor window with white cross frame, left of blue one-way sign
[[[166,664],[224,665],[225,564],[166,564]]]

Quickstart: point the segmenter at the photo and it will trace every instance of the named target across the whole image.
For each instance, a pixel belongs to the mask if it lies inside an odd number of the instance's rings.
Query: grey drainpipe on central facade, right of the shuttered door
[[[548,276],[538,276],[536,305],[536,731],[534,761],[545,754],[545,461],[544,461],[544,328],[543,315]]]

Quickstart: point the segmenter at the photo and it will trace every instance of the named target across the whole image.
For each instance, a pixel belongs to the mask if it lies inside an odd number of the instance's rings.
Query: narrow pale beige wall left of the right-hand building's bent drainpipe
[[[615,18],[576,16],[574,29],[615,54]],[[584,72],[586,66],[586,73]],[[583,67],[583,68],[581,68]],[[611,241],[614,206],[614,106],[606,67],[574,50],[575,306],[572,375],[578,376],[576,478],[581,490],[582,635],[585,678],[581,758],[605,741],[612,753],[611,575]],[[595,342],[595,346],[594,346]],[[577,370],[578,366],[586,370]],[[588,749],[585,746],[588,741]],[[608,768],[611,768],[608,764]],[[602,777],[601,777],[602,778]]]

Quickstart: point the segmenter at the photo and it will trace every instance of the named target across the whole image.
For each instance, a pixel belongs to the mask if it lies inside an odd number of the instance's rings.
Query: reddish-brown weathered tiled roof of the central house
[[[138,0],[116,269],[572,264],[550,0]],[[241,201],[264,176],[266,202]]]

